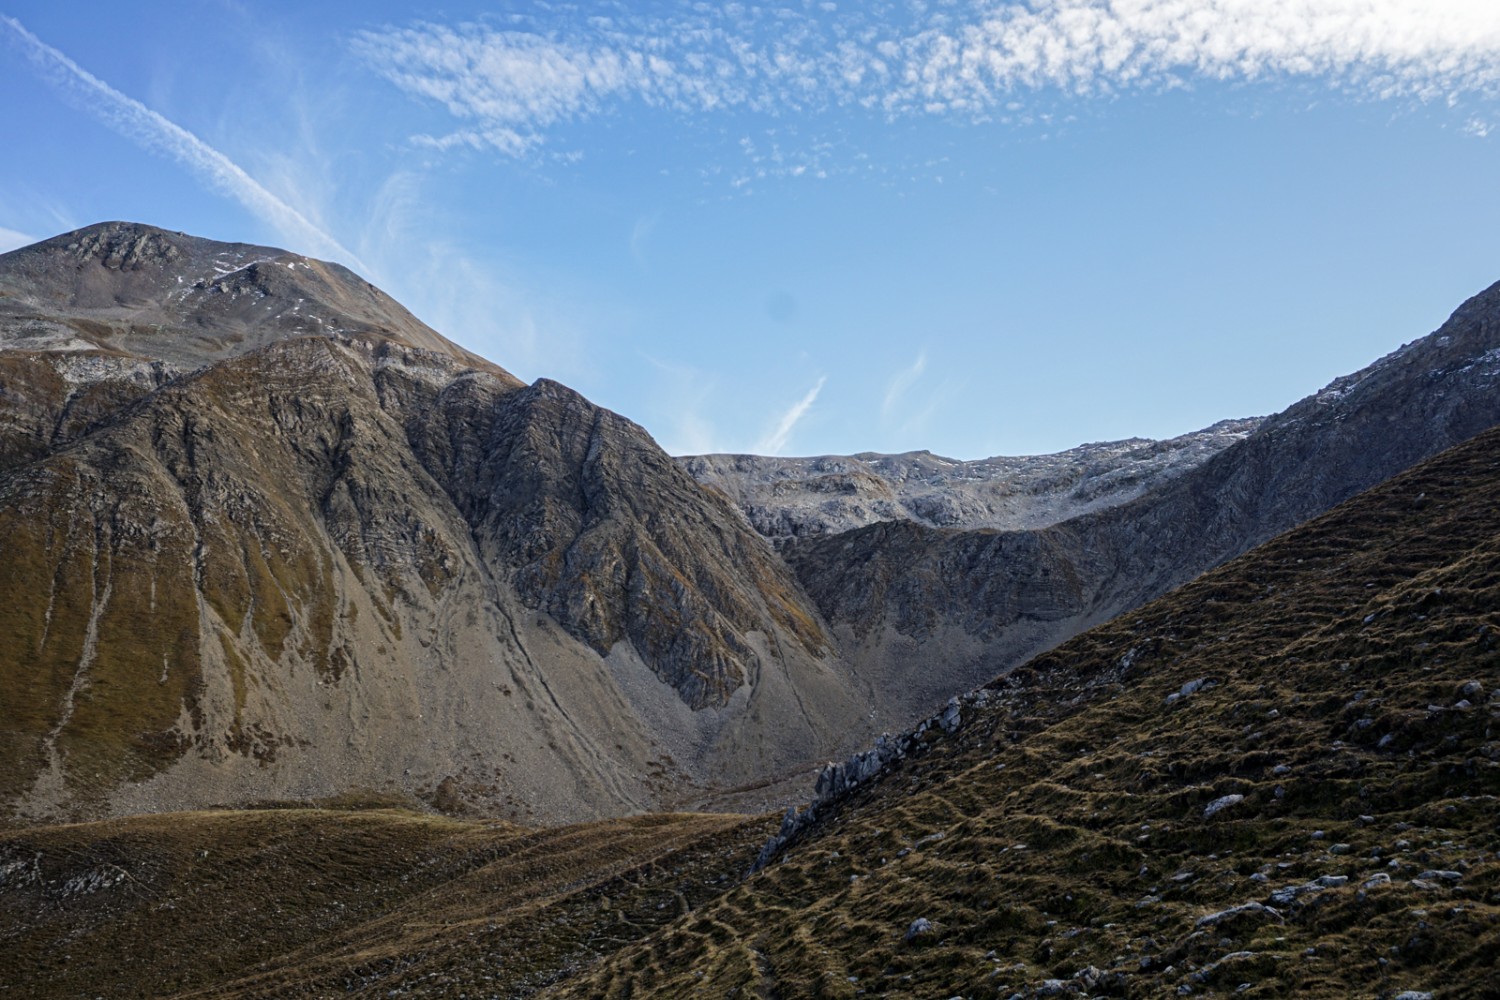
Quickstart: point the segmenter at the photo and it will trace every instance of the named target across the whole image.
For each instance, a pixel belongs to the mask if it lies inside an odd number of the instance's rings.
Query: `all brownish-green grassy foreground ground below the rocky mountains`
[[[770,820],[24,829],[0,996],[1496,996],[1497,633],[1488,432],[994,682],[750,879]]]

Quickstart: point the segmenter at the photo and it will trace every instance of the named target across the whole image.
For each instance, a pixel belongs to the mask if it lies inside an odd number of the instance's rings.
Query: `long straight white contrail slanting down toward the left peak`
[[[366,270],[364,264],[348,247],[261,186],[228,156],[140,100],[104,82],[32,34],[15,18],[0,15],[0,25],[42,76],[78,108],[93,114],[132,142],[177,160],[214,190],[238,201],[246,210],[274,228],[297,250],[334,258]]]

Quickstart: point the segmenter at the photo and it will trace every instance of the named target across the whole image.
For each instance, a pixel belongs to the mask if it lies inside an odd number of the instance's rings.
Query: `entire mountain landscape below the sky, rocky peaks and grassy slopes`
[[[1500,285],[1172,441],[674,459],[334,264],[0,255],[0,996],[1492,996],[1496,424]]]

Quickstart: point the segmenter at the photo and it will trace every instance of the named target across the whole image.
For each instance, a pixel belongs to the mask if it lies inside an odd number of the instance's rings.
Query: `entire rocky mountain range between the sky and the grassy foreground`
[[[672,460],[345,268],[90,226],[0,256],[0,808],[784,801],[1500,423],[1491,288],[1170,442]]]

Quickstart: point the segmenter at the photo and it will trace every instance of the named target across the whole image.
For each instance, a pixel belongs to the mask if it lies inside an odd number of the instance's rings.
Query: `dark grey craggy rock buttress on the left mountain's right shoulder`
[[[750,633],[830,645],[786,567],[639,426],[549,379],[458,415],[416,427],[418,453],[486,561],[600,655],[630,642],[700,709],[747,682]]]

